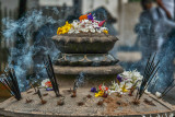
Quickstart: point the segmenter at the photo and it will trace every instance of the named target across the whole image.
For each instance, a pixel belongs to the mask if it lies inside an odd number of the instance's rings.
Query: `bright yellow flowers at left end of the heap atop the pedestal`
[[[72,24],[69,24],[68,21],[67,21],[63,26],[58,27],[58,30],[57,30],[57,35],[68,33],[71,27],[72,27]]]

